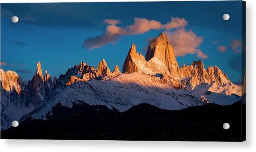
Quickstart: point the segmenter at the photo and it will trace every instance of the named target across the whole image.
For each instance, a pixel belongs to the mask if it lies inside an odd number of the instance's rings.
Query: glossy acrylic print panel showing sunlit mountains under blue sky
[[[244,141],[245,2],[1,4],[1,139]]]

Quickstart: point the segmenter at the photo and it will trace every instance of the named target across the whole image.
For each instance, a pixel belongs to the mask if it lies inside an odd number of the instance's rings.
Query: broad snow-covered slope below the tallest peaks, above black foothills
[[[168,82],[164,79],[163,76],[134,72],[132,74],[119,74],[115,78],[76,82],[63,88],[49,101],[41,104],[28,117],[45,119],[45,116],[51,114],[52,107],[57,103],[61,103],[62,106],[72,107],[72,103],[76,101],[84,101],[90,105],[105,105],[120,112],[128,110],[139,103],[149,103],[166,110],[179,110],[204,104],[200,96],[205,94],[211,87],[209,84],[205,84],[201,89],[199,87],[194,90],[174,89],[170,84],[174,80]],[[229,101],[228,104],[234,102],[234,100],[230,100],[233,99],[233,96],[223,93],[212,95],[217,97],[216,100],[225,96]],[[212,95],[207,96],[207,99],[209,98],[211,101]],[[238,100],[237,98],[235,101]]]

